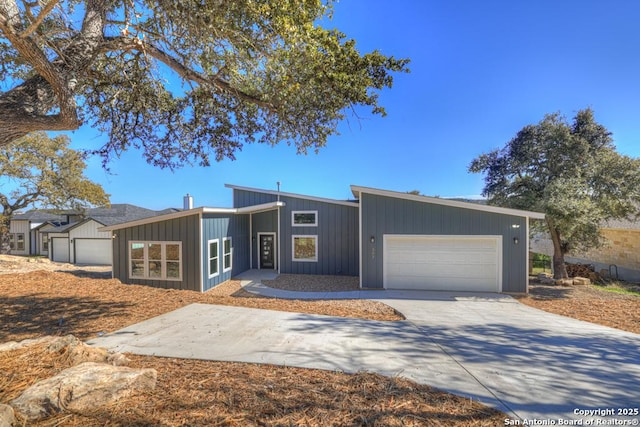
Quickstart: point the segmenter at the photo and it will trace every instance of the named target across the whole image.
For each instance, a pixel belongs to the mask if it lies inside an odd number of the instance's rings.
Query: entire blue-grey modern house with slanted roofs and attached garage
[[[535,212],[351,186],[355,200],[227,185],[232,208],[103,227],[125,283],[207,291],[250,269],[362,288],[527,292]]]

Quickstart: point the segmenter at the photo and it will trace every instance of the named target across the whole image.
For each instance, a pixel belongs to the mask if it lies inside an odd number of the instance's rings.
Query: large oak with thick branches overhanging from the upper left
[[[106,158],[162,167],[233,159],[246,143],[317,150],[345,114],[384,115],[408,60],[321,27],[332,0],[0,0],[0,145],[83,121]],[[356,110],[357,111],[357,110]]]

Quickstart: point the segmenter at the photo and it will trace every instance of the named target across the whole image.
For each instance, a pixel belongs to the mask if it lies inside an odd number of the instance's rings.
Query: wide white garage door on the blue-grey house
[[[500,292],[500,236],[384,236],[384,287]]]

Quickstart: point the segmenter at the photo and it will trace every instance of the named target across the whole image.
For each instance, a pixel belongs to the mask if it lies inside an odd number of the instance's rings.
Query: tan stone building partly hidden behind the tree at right
[[[609,221],[600,230],[605,239],[602,247],[565,256],[570,263],[592,264],[596,272],[604,270],[613,278],[640,282],[640,221]],[[553,255],[548,233],[531,240],[532,252]]]

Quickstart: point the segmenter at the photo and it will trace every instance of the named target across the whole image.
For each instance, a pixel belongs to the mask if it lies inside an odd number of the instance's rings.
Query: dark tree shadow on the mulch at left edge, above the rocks
[[[41,335],[95,335],[100,320],[126,314],[133,304],[41,294],[0,300],[0,342]]]

